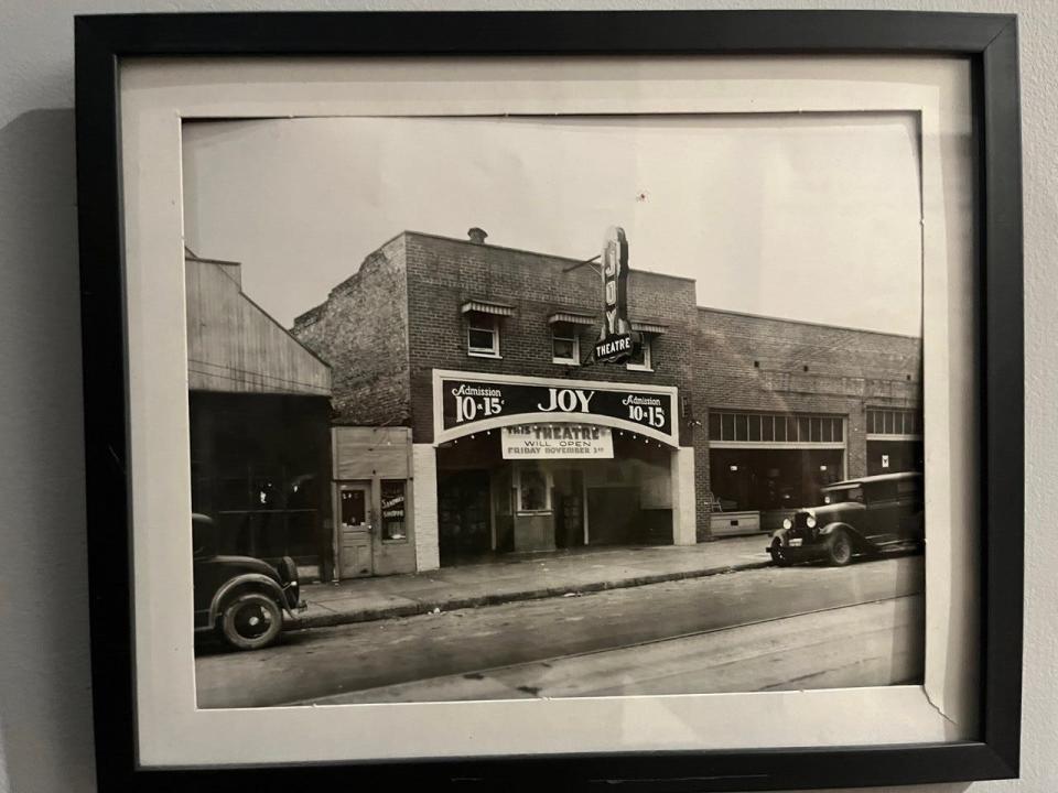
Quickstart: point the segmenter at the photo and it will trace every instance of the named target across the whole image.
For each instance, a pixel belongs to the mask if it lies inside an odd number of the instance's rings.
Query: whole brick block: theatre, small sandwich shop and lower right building
[[[402,232],[291,330],[332,367],[342,577],[691,544],[863,475],[873,443],[915,464],[917,339],[699,308],[633,270],[636,357],[600,363],[597,271],[484,239]]]

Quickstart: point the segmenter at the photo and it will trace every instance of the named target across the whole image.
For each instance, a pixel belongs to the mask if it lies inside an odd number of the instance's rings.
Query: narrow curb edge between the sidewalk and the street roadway
[[[477,595],[474,597],[451,597],[436,600],[421,600],[413,604],[400,606],[390,606],[378,609],[360,609],[358,611],[330,611],[326,613],[316,613],[311,617],[295,617],[291,620],[288,630],[304,630],[306,628],[333,628],[342,624],[353,624],[355,622],[375,622],[395,617],[418,617],[427,615],[434,609],[440,611],[455,611],[457,609],[478,608],[482,606],[499,606],[508,602],[519,602],[522,600],[542,600],[551,597],[562,597],[564,595],[583,595],[585,593],[605,591],[607,589],[628,589],[637,586],[648,586],[650,584],[663,584],[671,580],[683,580],[689,578],[706,578],[725,573],[738,573],[741,571],[760,569],[770,567],[771,561],[767,562],[746,562],[736,565],[724,565],[721,567],[706,567],[697,571],[680,571],[678,573],[656,573],[647,576],[636,576],[634,578],[620,578],[618,580],[595,582],[584,584],[579,587],[550,586],[538,589],[522,589],[520,591],[496,593],[494,595]]]

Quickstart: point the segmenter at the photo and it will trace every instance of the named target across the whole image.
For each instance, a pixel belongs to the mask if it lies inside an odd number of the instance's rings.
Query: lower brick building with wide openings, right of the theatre
[[[922,469],[919,338],[714,308],[698,321],[698,510],[713,512],[700,536],[742,525],[732,510],[778,528],[822,485]]]

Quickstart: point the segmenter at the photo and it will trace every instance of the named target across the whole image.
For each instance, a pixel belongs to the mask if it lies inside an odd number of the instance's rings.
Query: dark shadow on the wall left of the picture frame
[[[73,110],[0,128],[0,789],[89,791]]]

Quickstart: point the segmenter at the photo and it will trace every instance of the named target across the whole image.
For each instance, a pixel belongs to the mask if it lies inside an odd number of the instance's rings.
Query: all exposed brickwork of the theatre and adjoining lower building
[[[630,251],[635,264],[635,248]],[[848,417],[850,476],[866,472],[866,409],[919,408],[920,339],[758,317],[695,305],[694,282],[633,270],[633,321],[667,327],[652,338],[654,371],[551,360],[557,312],[597,314],[601,284],[574,259],[406,231],[371,253],[293,334],[334,368],[339,424],[412,427],[433,441],[433,369],[676,385],[680,443],[694,447],[699,535],[710,511],[710,410]],[[467,354],[469,300],[504,303],[500,358]],[[577,326],[581,359],[598,326]]]

